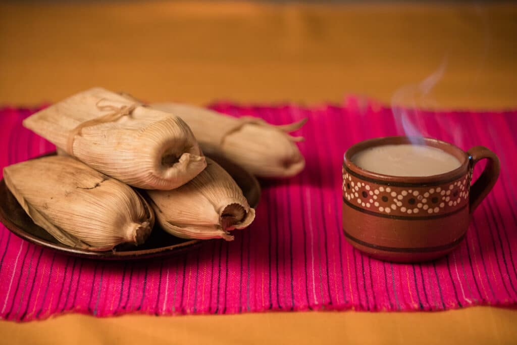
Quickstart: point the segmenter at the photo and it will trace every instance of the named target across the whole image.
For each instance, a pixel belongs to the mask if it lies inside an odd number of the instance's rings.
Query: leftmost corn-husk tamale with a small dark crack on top
[[[70,247],[139,245],[154,225],[152,209],[131,187],[70,157],[14,164],[4,179],[29,217]]]

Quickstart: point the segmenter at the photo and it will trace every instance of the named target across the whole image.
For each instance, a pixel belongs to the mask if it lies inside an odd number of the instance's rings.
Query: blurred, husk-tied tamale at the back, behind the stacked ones
[[[303,138],[292,137],[288,132],[299,129],[306,119],[273,126],[260,118],[235,118],[187,104],[150,105],[183,118],[206,154],[222,155],[254,175],[288,177],[305,167],[305,159],[295,144]]]

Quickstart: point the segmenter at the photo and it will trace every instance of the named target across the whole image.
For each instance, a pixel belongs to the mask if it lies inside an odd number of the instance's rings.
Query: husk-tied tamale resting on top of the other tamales
[[[24,126],[88,166],[131,186],[172,189],[205,167],[179,117],[91,88],[28,117]]]

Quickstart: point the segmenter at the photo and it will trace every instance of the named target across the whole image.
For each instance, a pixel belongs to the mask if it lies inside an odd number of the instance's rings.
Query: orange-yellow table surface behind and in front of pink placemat
[[[196,104],[341,102],[517,108],[517,6],[244,2],[0,4],[0,104],[90,86]],[[434,74],[433,74],[434,72]],[[431,89],[418,85],[433,76]],[[438,78],[439,77],[439,78]],[[410,86],[413,85],[413,86]],[[404,91],[404,97],[394,97]],[[0,282],[2,283],[2,282]],[[0,321],[0,343],[517,343],[517,310],[68,314]]]

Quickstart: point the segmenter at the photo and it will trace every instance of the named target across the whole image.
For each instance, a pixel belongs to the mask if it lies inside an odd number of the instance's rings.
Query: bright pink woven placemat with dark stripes
[[[364,256],[341,231],[343,153],[363,139],[402,134],[404,126],[389,108],[355,98],[343,106],[219,103],[213,108],[273,124],[309,118],[296,133],[306,138],[299,146],[307,168],[291,179],[263,181],[249,229],[237,232],[232,243],[211,241],[185,254],[124,263],[68,257],[0,226],[0,317],[515,306],[517,111],[407,113],[425,136],[464,149],[488,146],[499,155],[502,169],[458,250],[435,262],[393,264]],[[0,110],[1,167],[54,149],[22,127],[31,113]]]

